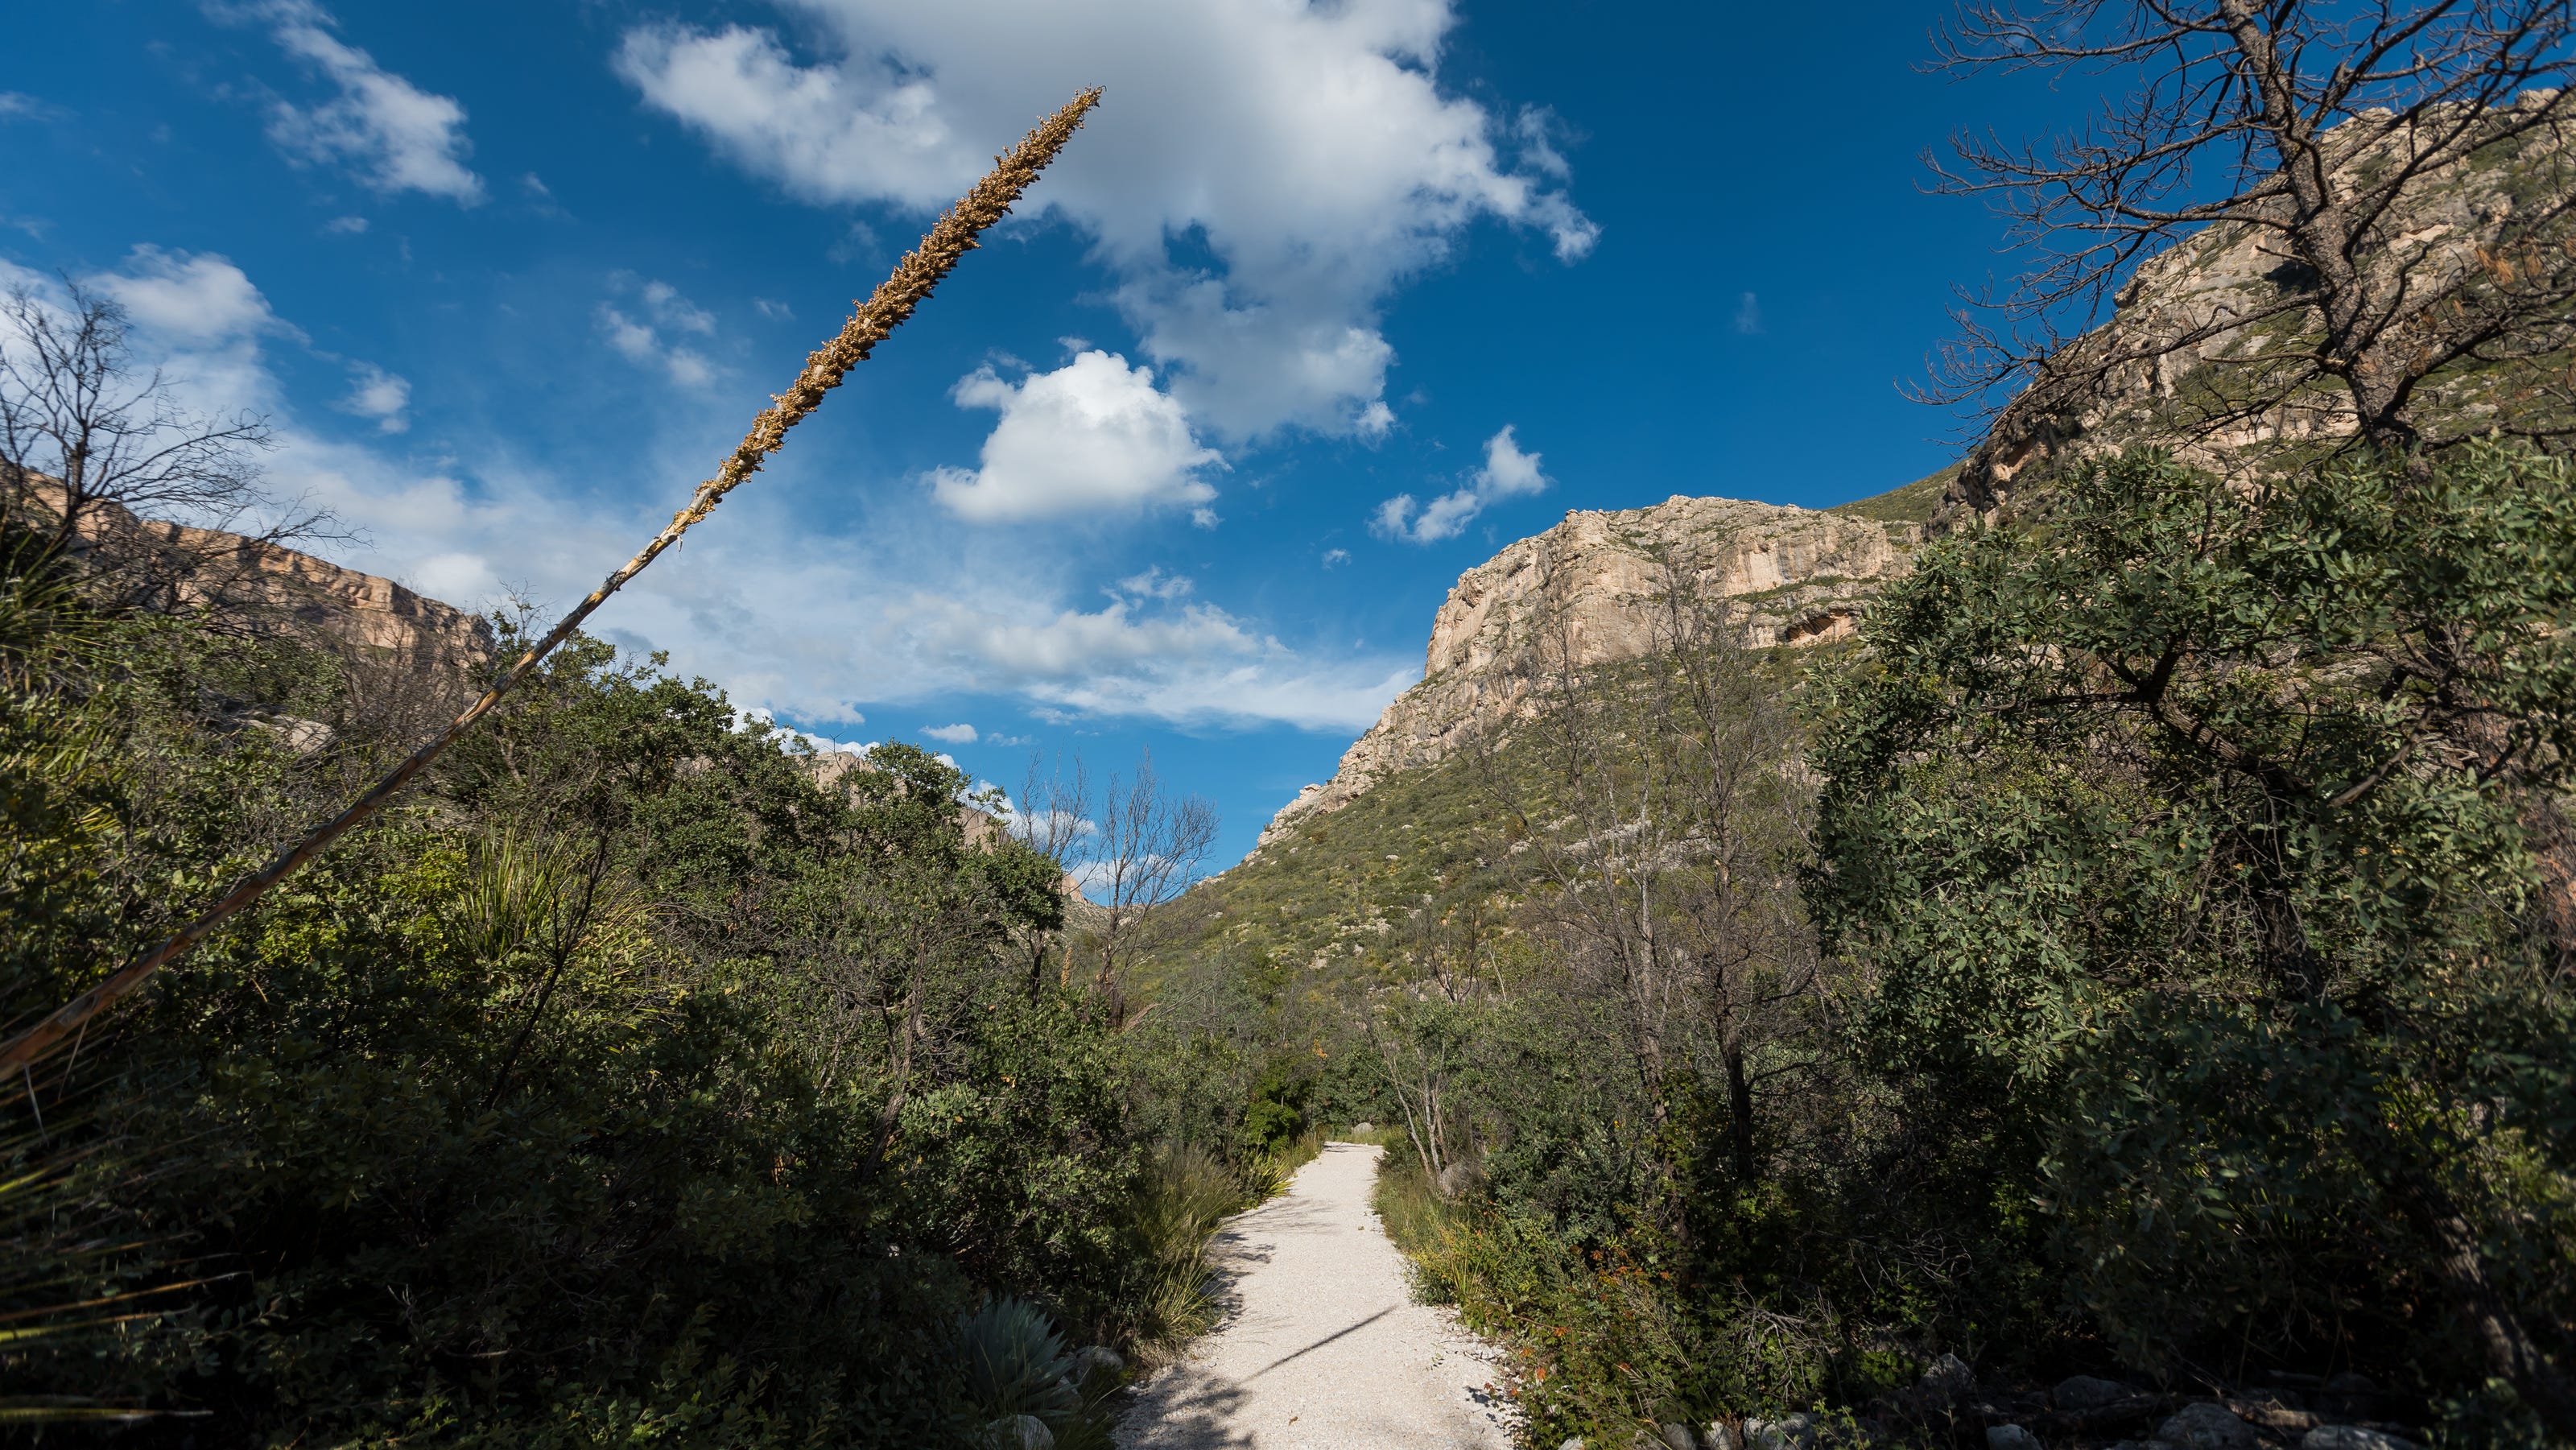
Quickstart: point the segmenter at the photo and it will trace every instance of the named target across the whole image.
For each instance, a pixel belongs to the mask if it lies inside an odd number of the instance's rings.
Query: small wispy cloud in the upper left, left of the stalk
[[[222,18],[265,23],[278,49],[340,88],[312,108],[276,100],[268,139],[291,160],[348,162],[376,191],[420,191],[461,206],[484,198],[484,183],[466,167],[466,108],[453,95],[433,95],[384,70],[332,33],[337,21],[314,0],[263,0],[214,8]]]

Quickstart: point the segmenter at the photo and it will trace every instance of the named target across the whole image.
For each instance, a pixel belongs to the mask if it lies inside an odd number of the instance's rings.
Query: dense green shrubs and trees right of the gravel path
[[[1819,662],[1814,737],[1747,755],[1808,762],[1754,811],[1785,832],[1685,767],[1728,719],[1674,708],[1695,672],[1759,670],[1690,634],[1551,680],[1468,891],[1342,994],[1386,1064],[1350,1115],[1440,1097],[1476,1169],[1399,1138],[1381,1205],[1520,1352],[1533,1442],[1826,1406],[1947,1437],[1909,1393],[1942,1352],[2362,1370],[2450,1442],[2568,1432],[2563,458],[2069,476]],[[1754,932],[1747,876],[1814,927]],[[1486,894],[1468,961],[1419,930]]]

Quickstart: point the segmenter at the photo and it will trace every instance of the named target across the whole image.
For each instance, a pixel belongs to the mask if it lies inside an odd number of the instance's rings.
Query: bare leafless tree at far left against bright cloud
[[[31,286],[0,299],[0,489],[10,518],[111,574],[191,572],[175,531],[260,541],[322,533],[325,513],[260,487],[268,422],[183,407],[160,368],[134,358],[124,306],[64,281],[62,304]]]

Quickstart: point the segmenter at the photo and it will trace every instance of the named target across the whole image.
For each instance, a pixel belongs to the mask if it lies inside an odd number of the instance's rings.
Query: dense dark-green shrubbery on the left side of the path
[[[397,749],[327,654],[26,574],[13,1015]],[[13,1404],[198,1445],[940,1445],[981,1411],[938,1326],[987,1293],[1077,1342],[1185,1334],[1242,1174],[1154,1154],[1151,1074],[1030,974],[1056,865],[969,840],[935,757],[873,762],[822,788],[703,683],[562,652],[57,1056],[44,1131],[21,1097],[0,1293],[54,1329],[10,1344]],[[129,1290],[162,1293],[64,1308]]]

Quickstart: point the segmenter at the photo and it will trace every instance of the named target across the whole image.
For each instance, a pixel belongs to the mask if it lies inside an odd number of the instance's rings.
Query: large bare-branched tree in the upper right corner
[[[2540,394],[2576,343],[2568,0],[1991,0],[1937,36],[1937,70],[2099,72],[2094,121],[2045,142],[1953,139],[1937,185],[1989,198],[2032,258],[1958,312],[1924,397],[2009,397],[1963,489],[1994,502],[2032,440],[2107,381],[2148,373],[2190,435],[2566,435]],[[2465,183],[2499,170],[2483,191]],[[2249,245],[2267,276],[2138,301],[2141,265]],[[2233,337],[2233,343],[2223,343]],[[2483,407],[2427,391],[2514,368]],[[2177,373],[2190,386],[2172,389]],[[2494,379],[2494,373],[2488,373]],[[2522,389],[2522,391],[2512,391]]]

